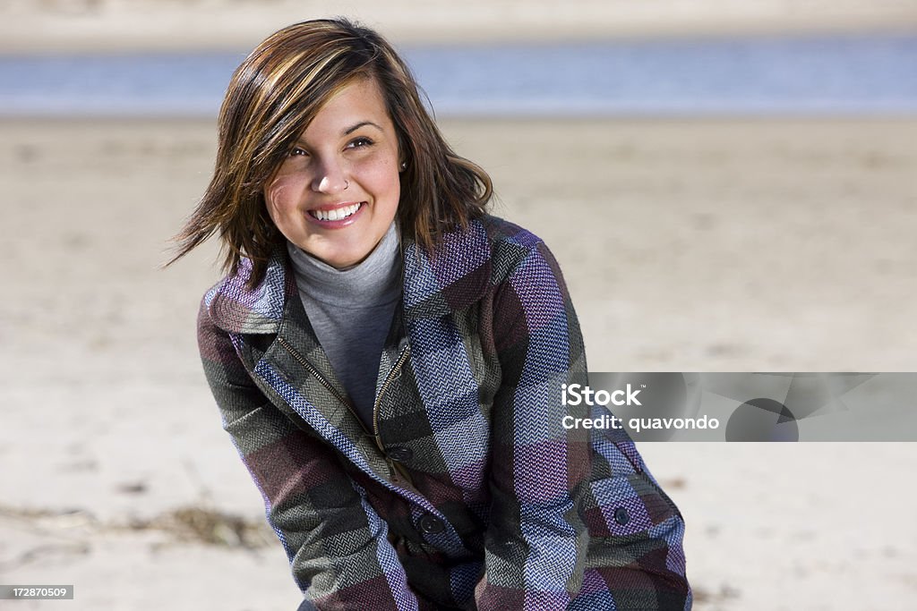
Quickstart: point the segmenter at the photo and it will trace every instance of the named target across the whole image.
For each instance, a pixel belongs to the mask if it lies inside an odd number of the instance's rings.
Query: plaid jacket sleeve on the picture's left
[[[417,609],[388,527],[326,443],[298,429],[253,383],[204,304],[198,344],[223,427],[264,498],[293,578],[315,609]],[[313,608],[304,602],[301,608]]]

